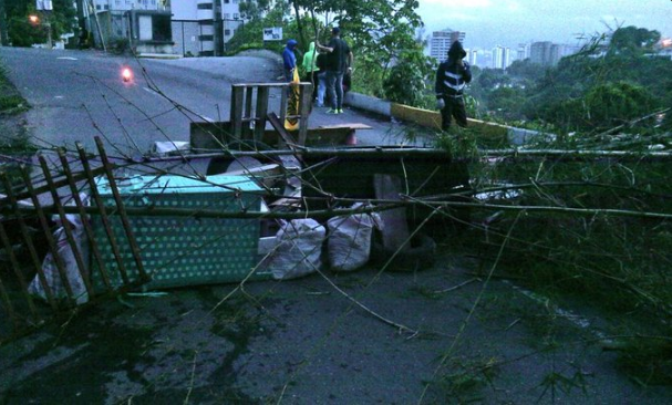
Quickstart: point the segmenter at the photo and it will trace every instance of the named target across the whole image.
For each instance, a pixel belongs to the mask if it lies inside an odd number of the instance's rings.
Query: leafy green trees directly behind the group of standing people
[[[342,29],[355,55],[353,89],[383,98],[424,105],[432,61],[423,54],[415,30],[422,27],[416,1],[278,1],[244,2],[241,11],[250,22],[228,43],[231,53],[249,48],[280,50],[285,43],[261,43],[261,29],[283,28],[285,39],[294,38],[301,51],[309,43],[329,41],[332,27]],[[260,11],[268,10],[265,17]],[[325,15],[321,21],[317,15]]]

